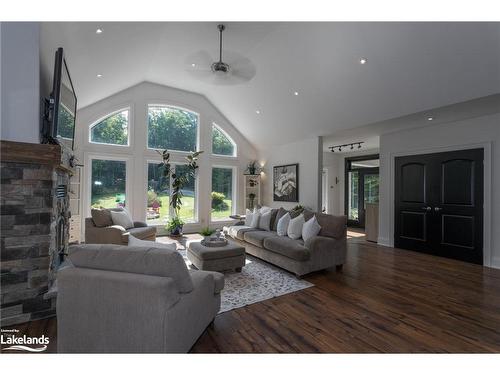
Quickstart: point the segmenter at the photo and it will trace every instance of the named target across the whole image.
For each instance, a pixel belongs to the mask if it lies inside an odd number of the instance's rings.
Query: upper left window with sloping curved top
[[[127,146],[128,128],[129,110],[120,110],[90,126],[90,142]]]

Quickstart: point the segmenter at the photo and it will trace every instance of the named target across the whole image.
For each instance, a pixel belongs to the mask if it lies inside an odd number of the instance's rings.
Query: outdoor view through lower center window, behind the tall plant
[[[175,173],[187,173],[186,165],[174,165]],[[148,163],[148,200],[146,220],[148,224],[165,225],[171,216],[170,180],[163,176],[159,163]],[[182,190],[182,208],[179,217],[186,223],[196,221],[196,181],[189,178]]]

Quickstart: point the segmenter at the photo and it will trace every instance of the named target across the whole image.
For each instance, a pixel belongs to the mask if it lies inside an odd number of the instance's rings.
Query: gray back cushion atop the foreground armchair
[[[193,290],[193,281],[178,251],[151,246],[70,246],[69,259],[75,267],[172,278],[180,293]]]

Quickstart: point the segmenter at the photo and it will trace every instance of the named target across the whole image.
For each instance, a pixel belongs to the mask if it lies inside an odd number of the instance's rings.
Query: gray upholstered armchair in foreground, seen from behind
[[[57,274],[60,353],[185,353],[220,309],[224,276],[177,251],[70,247]]]

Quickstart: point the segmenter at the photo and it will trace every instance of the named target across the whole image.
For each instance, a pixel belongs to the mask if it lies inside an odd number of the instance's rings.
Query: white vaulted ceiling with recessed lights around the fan
[[[42,72],[64,47],[80,108],[142,81],[201,93],[261,150],[500,92],[500,23],[225,24],[256,68],[241,85],[188,72],[215,22],[43,23]]]

